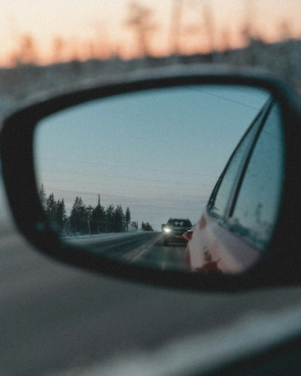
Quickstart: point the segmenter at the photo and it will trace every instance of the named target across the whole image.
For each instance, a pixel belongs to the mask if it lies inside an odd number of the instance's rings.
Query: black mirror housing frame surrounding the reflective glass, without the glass
[[[281,107],[286,143],[286,177],[278,223],[266,257],[241,275],[188,273],[144,268],[90,255],[62,244],[47,223],[36,188],[33,165],[33,130],[47,115],[89,100],[151,88],[189,84],[234,84],[267,89]],[[301,105],[299,95],[279,77],[254,71],[209,68],[203,65],[174,66],[138,71],[91,85],[84,83],[68,92],[31,101],[3,122],[0,153],[2,173],[11,210],[21,233],[44,254],[76,267],[154,285],[206,291],[240,291],[254,288],[299,285],[301,236]],[[294,201],[292,200],[294,199]],[[201,215],[201,213],[200,213]]]

